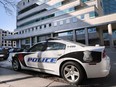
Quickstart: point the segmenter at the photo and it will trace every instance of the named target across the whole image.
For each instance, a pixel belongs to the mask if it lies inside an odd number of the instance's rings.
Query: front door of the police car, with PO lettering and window
[[[41,52],[44,50],[44,48],[45,48],[45,42],[36,44],[29,49],[27,53],[28,55],[24,57],[24,60],[28,67],[38,68],[38,63],[41,58]]]

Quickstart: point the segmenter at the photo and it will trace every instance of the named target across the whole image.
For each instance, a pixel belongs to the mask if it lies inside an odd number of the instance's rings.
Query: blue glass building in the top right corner
[[[104,14],[116,13],[116,0],[102,0]]]

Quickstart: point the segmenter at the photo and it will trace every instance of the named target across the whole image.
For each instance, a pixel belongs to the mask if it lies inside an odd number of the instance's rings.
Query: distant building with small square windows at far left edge
[[[16,41],[5,40],[4,37],[8,35],[13,35],[12,32],[0,29],[0,48],[2,47],[16,47]]]

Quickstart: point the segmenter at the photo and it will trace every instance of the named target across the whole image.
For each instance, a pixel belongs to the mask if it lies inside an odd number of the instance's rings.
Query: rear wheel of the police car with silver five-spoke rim
[[[84,79],[83,68],[76,62],[66,62],[61,67],[62,77],[71,85],[78,85]]]

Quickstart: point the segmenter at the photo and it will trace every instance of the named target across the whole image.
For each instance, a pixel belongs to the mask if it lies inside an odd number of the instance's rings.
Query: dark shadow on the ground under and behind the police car
[[[111,72],[107,77],[95,78],[95,79],[86,79],[79,86],[60,85],[60,86],[53,86],[53,87],[112,87],[112,86],[116,86],[116,77],[115,77],[116,70],[115,70],[115,66],[113,64],[111,64],[111,65],[112,65]],[[23,70],[21,72],[26,73],[26,74],[31,74],[35,77],[54,80],[55,82],[67,83],[61,77],[51,75],[51,74],[40,73],[40,72],[30,71],[30,70]],[[48,87],[52,87],[52,86],[48,86]]]

